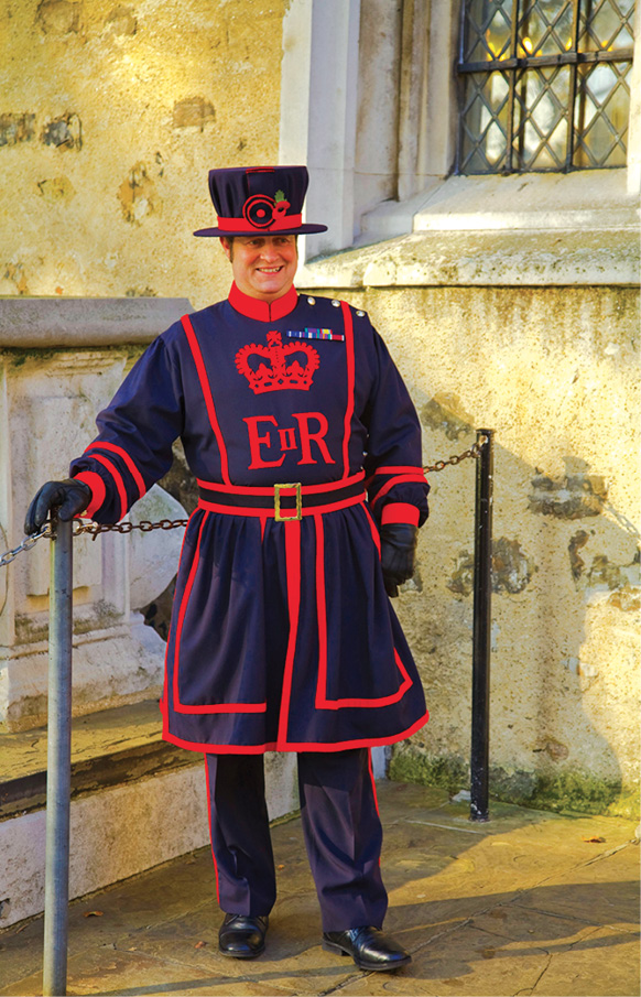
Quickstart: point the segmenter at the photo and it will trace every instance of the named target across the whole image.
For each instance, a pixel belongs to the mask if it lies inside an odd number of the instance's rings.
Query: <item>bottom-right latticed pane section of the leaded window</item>
[[[624,166],[632,64],[582,66],[574,109],[574,165]]]

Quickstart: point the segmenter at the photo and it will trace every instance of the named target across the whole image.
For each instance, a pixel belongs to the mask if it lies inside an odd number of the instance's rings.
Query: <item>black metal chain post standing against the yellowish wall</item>
[[[492,430],[478,430],[474,546],[470,821],[489,821],[490,640],[492,595]]]

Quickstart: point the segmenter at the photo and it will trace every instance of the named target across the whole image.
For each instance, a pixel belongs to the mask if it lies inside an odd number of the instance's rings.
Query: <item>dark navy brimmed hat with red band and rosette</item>
[[[216,228],[195,236],[305,235],[326,225],[303,224],[309,174],[306,166],[232,166],[209,171],[209,193],[218,215]]]

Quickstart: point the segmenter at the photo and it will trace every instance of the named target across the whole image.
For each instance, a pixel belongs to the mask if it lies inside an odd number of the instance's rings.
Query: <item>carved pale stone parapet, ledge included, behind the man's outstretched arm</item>
[[[0,300],[0,545],[22,539],[37,488],[65,478],[96,413],[183,300]],[[69,344],[74,344],[70,346]],[[183,519],[159,486],[129,519]],[[74,541],[74,714],[157,698],[165,647],[146,607],[175,574],[183,530]],[[50,543],[0,571],[0,732],[46,720]]]

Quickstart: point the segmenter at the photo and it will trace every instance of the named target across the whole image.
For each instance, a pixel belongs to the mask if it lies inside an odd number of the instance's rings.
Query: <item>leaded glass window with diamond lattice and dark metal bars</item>
[[[626,165],[634,0],[464,0],[457,173]]]

